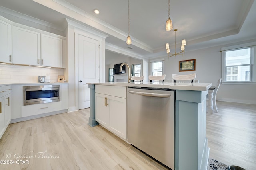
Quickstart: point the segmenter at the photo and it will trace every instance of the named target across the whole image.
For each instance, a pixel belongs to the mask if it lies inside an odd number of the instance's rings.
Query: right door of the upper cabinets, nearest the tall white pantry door
[[[41,65],[62,67],[63,39],[41,34]]]

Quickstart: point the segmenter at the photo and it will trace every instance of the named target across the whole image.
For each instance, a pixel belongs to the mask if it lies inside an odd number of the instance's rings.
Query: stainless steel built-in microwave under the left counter
[[[23,86],[23,104],[40,104],[60,101],[60,85]]]

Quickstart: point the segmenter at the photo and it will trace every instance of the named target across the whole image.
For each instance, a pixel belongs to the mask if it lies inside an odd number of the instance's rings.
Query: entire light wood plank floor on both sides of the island
[[[207,113],[210,158],[254,170],[256,106],[228,102],[217,106],[219,113]],[[83,109],[10,124],[0,139],[0,160],[14,160],[14,164],[0,164],[0,169],[166,169],[101,126],[88,126],[89,112]]]

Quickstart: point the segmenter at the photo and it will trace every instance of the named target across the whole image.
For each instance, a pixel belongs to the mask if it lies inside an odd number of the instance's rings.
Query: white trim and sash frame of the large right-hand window
[[[235,50],[235,49],[245,49],[251,47],[251,63],[250,64],[242,64],[242,65],[250,65],[250,81],[226,81],[226,51]],[[256,42],[252,43],[245,43],[240,45],[233,45],[229,47],[222,47],[222,84],[256,84]],[[235,65],[235,66],[242,66],[242,65]]]

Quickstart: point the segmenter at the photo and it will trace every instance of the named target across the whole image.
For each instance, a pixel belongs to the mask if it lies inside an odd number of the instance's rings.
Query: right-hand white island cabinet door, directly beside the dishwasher
[[[126,139],[126,99],[114,96],[109,97],[109,129]]]

